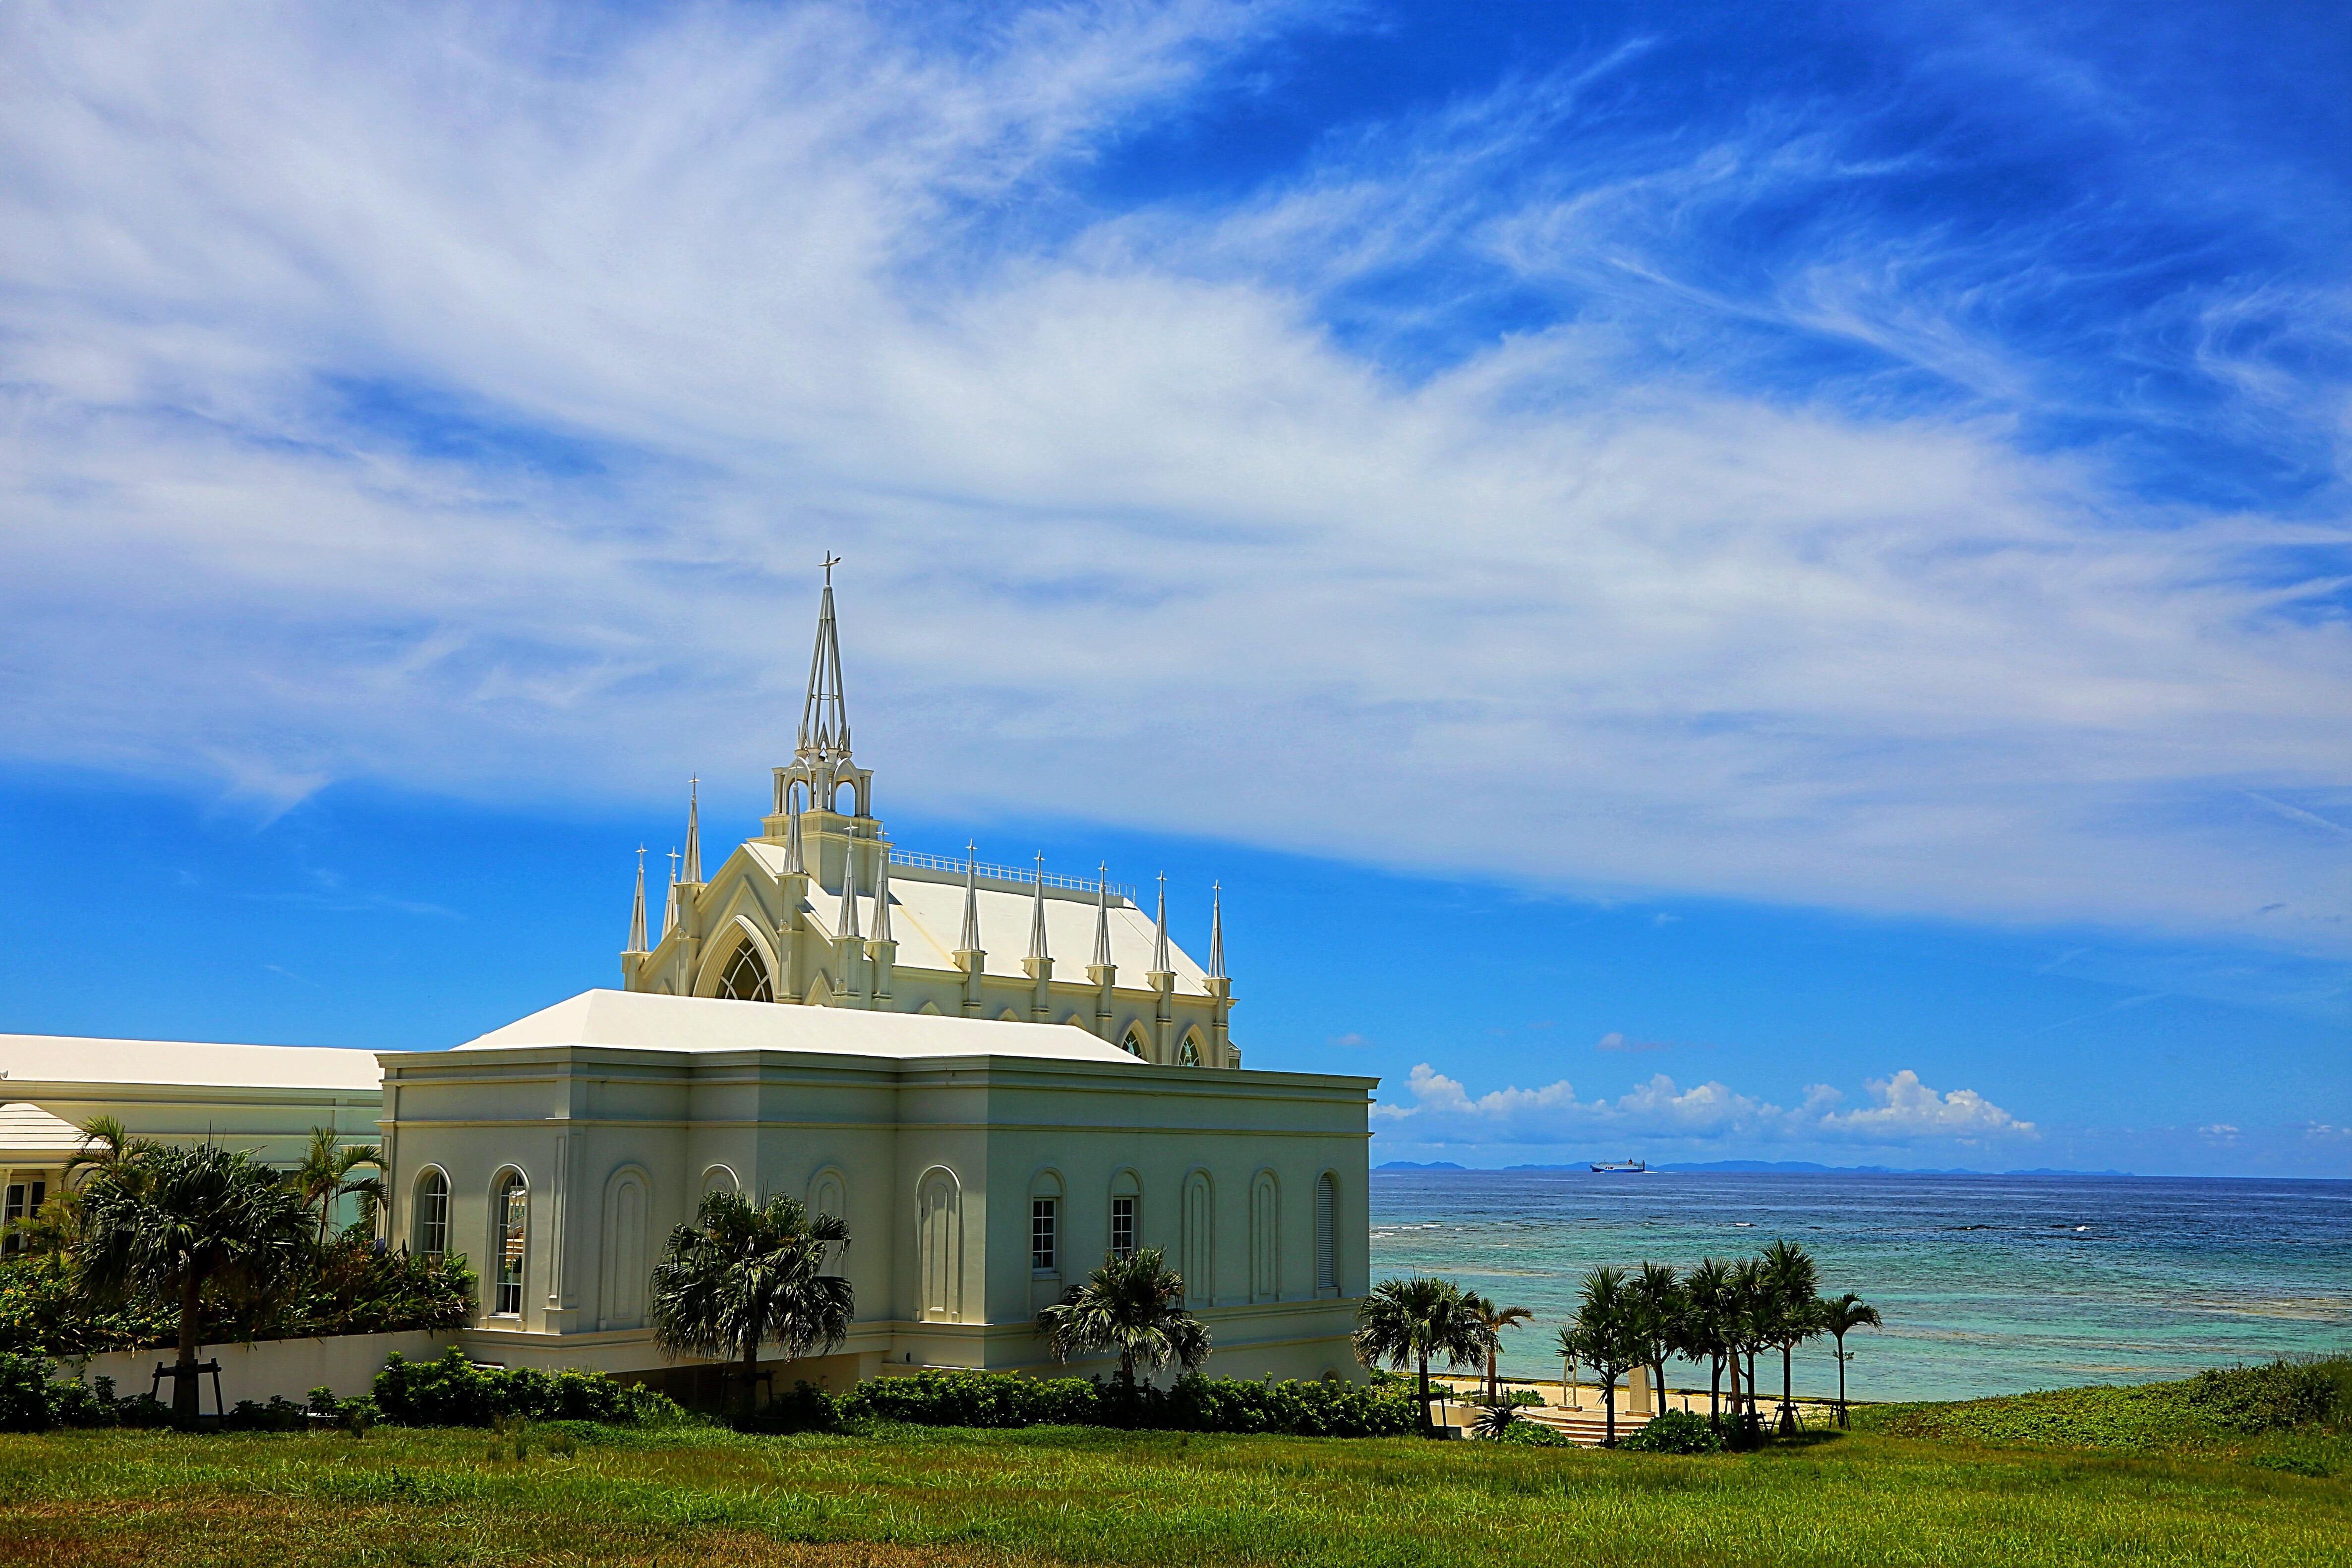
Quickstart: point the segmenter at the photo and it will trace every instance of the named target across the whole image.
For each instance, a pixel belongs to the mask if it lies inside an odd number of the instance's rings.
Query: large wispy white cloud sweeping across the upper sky
[[[2216,411],[2070,444],[2086,263],[1875,207],[1891,110],[1625,129],[1644,35],[1122,195],[1345,16],[906,21],[0,14],[9,759],[668,804],[835,548],[884,806],[2352,945],[2343,296],[2131,303]]]

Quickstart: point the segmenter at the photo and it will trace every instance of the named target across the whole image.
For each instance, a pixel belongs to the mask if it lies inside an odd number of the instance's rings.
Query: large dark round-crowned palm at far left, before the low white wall
[[[249,1150],[129,1143],[92,1161],[80,1194],[75,1262],[101,1298],[132,1291],[179,1298],[179,1361],[172,1413],[198,1413],[198,1307],[207,1291],[240,1302],[270,1300],[310,1241],[310,1215],[278,1171]]]

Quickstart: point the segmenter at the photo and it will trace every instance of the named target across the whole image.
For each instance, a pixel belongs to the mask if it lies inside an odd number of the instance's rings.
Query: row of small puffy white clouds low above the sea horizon
[[[1472,1095],[1428,1063],[1406,1079],[1411,1105],[1374,1105],[1374,1133],[1406,1145],[1564,1145],[1611,1133],[1686,1143],[1990,1147],[2039,1135],[1973,1088],[1938,1093],[1910,1067],[1865,1084],[1867,1105],[1846,1105],[1830,1084],[1811,1084],[1797,1105],[1773,1105],[1719,1081],[1682,1088],[1658,1072],[1616,1100],[1578,1100],[1569,1079],[1543,1088]]]

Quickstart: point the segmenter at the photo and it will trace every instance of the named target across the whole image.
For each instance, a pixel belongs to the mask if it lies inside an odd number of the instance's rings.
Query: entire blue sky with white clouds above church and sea
[[[2352,1175],[2347,59],[12,7],[0,1027],[609,983],[833,548],[901,842],[1223,877],[1388,1154]]]

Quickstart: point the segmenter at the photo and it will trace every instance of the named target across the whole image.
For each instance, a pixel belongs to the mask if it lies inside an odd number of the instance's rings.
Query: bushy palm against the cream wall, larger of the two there
[[[691,1225],[670,1232],[654,1265],[654,1342],[670,1356],[743,1361],[750,1415],[760,1347],[786,1361],[849,1338],[849,1281],[826,1272],[830,1244],[849,1229],[776,1194],[753,1206],[741,1192],[706,1192]]]

